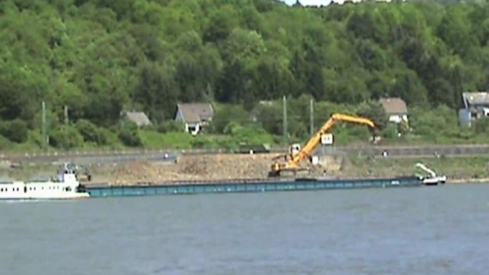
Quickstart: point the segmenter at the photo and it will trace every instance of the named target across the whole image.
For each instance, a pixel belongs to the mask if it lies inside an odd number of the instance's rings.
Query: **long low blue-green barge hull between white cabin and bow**
[[[277,192],[303,190],[341,190],[358,188],[416,187],[422,186],[419,177],[394,177],[384,179],[322,180],[296,179],[282,181],[235,181],[220,183],[185,182],[161,185],[88,186],[91,197],[147,196],[159,194],[204,194],[237,192]]]

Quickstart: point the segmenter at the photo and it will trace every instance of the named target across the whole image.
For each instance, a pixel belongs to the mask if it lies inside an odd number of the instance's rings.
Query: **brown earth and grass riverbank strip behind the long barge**
[[[105,163],[91,166],[93,182],[110,185],[129,185],[135,182],[188,182],[212,180],[252,180],[267,178],[273,157],[277,154],[212,154],[184,155],[177,162],[150,162],[138,160],[119,165]],[[422,162],[441,175],[449,183],[489,182],[489,157],[440,157],[440,158],[390,158],[390,157],[346,157],[329,155],[321,159],[320,165],[309,166],[309,177],[336,178],[380,178],[421,174],[415,167]],[[53,175],[52,165],[29,167],[2,167],[0,177],[16,180],[31,180]]]

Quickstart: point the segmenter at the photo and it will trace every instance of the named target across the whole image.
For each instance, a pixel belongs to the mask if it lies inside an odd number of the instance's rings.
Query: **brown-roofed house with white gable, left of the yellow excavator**
[[[202,130],[214,117],[214,109],[210,103],[179,103],[175,121],[185,125],[185,131],[192,135]]]

